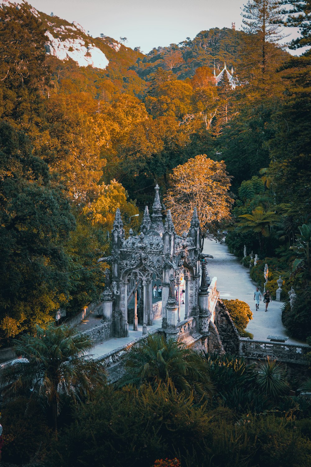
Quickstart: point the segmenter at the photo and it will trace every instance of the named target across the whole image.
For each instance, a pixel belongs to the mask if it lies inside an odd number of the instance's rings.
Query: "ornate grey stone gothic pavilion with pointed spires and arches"
[[[166,334],[178,334],[180,319],[191,318],[191,327],[200,333],[208,331],[212,311],[208,309],[209,279],[205,258],[212,257],[201,252],[201,231],[196,208],[189,232],[182,236],[175,233],[173,219],[168,210],[165,223],[162,221],[162,205],[159,186],[155,187],[155,198],[150,217],[145,207],[140,234],[125,239],[123,222],[117,209],[112,229],[112,251],[103,258],[112,266],[112,290],[108,275],[103,293],[104,316],[113,322],[115,337],[127,337],[128,299],[134,296],[134,330],[138,329],[137,288],[143,295],[143,334],[152,325],[152,279],[156,277],[162,285],[162,329]],[[202,278],[200,285],[200,267]],[[185,279],[185,317],[180,318],[180,277]],[[134,284],[131,291],[131,284]],[[174,285],[178,287],[178,301]]]

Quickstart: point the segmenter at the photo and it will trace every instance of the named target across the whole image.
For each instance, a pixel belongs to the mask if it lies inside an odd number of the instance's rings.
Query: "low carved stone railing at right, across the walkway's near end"
[[[250,340],[240,338],[239,355],[246,358],[265,358],[268,355],[274,359],[307,365],[309,361],[305,354],[311,352],[306,344],[283,344],[280,342],[267,342],[264,340]]]

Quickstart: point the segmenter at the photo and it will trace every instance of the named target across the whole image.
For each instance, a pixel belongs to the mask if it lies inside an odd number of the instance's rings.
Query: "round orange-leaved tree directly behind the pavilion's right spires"
[[[173,169],[164,202],[171,209],[177,233],[189,229],[196,207],[204,237],[220,237],[221,227],[230,221],[230,178],[225,163],[206,154]]]

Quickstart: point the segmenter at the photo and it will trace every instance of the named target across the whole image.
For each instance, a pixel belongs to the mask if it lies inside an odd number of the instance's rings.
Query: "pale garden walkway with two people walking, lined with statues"
[[[254,339],[266,340],[270,334],[289,335],[281,321],[282,302],[274,300],[265,312],[265,304],[262,301],[259,311],[256,311],[254,302],[256,286],[249,276],[249,270],[242,266],[235,255],[229,253],[226,244],[205,240],[203,252],[214,256],[214,259],[207,260],[207,271],[211,279],[217,276],[217,290],[220,292],[220,298],[228,300],[238,298],[249,304],[253,319],[249,321],[247,331],[254,335]],[[286,342],[288,344],[302,343],[292,338]]]

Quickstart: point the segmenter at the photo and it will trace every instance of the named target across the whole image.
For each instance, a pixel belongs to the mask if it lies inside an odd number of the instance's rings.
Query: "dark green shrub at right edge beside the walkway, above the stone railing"
[[[282,323],[292,337],[305,340],[311,335],[311,288],[297,293],[293,309],[290,303],[285,304],[282,310]]]

